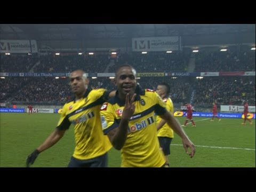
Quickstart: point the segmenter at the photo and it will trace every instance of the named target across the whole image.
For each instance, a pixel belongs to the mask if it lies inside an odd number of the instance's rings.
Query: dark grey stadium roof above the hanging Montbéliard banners
[[[0,24],[1,39],[77,40],[254,33],[255,24]]]

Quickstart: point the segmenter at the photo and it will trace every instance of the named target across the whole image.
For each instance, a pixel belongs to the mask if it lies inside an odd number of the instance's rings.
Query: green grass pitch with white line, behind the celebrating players
[[[178,117],[181,124],[185,117]],[[255,121],[241,125],[242,119],[195,117],[184,127],[196,145],[189,158],[174,134],[169,156],[171,167],[255,167]],[[58,114],[0,114],[0,167],[25,167],[26,157],[55,129]],[[52,148],[41,153],[32,167],[67,167],[75,147],[73,127]],[[108,166],[119,167],[121,154],[112,148]]]

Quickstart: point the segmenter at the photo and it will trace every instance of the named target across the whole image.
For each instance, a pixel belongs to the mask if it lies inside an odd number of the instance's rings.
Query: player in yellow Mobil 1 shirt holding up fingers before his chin
[[[100,111],[104,134],[112,145],[121,150],[122,167],[163,167],[166,159],[159,149],[155,113],[182,138],[189,156],[195,154],[195,146],[177,119],[165,108],[165,102],[153,90],[143,90],[137,85],[136,71],[130,65],[122,65],[116,71],[115,97],[105,102]]]

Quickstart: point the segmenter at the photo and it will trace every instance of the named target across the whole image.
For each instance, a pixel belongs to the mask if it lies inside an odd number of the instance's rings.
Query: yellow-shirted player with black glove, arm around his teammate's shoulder
[[[39,153],[55,145],[71,124],[74,125],[76,147],[68,167],[107,166],[107,152],[111,143],[102,133],[100,107],[115,92],[88,89],[89,79],[83,70],[73,71],[69,84],[75,94],[74,100],[63,106],[56,129],[28,156],[27,167],[35,162]]]

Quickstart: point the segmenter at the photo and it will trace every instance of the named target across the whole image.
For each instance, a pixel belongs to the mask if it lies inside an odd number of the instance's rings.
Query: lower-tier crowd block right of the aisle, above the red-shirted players
[[[242,105],[247,100],[255,105],[255,76],[205,77],[194,82],[195,103]]]

